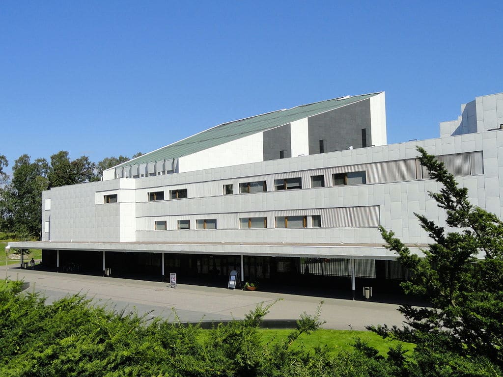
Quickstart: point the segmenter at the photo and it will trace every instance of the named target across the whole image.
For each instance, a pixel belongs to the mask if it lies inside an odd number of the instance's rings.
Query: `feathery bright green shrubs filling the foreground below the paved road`
[[[293,349],[316,331],[319,308],[303,314],[284,341],[264,343],[259,325],[271,305],[211,330],[91,306],[81,295],[51,305],[19,282],[0,281],[0,375],[24,376],[372,376],[391,375],[383,357],[360,350]]]

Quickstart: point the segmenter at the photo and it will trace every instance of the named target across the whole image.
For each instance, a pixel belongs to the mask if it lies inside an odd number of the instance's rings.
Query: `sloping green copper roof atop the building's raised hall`
[[[229,141],[240,139],[244,136],[253,135],[258,132],[283,126],[299,119],[354,104],[355,102],[366,100],[378,94],[379,93],[370,93],[361,96],[336,98],[223,123],[117,166],[130,166],[186,156]]]

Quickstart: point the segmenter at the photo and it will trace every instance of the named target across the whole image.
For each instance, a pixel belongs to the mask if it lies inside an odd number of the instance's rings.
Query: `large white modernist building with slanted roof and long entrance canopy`
[[[503,210],[503,93],[462,105],[441,137],[386,144],[384,92],[218,125],[44,192],[43,264],[179,280],[401,278],[379,225],[412,250],[430,241],[414,212],[445,226],[416,146],[443,161],[472,203]]]

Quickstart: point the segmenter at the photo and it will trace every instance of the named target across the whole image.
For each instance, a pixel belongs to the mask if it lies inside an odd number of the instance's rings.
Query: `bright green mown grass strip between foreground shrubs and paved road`
[[[264,343],[279,342],[285,340],[292,332],[289,329],[260,329]],[[302,334],[297,341],[293,344],[294,347],[305,347],[305,349],[313,349],[315,346],[327,346],[334,351],[345,349],[352,349],[352,345],[356,339],[360,338],[367,342],[369,346],[377,348],[379,352],[385,356],[389,347],[396,346],[398,341],[383,339],[379,335],[371,331],[356,331],[356,330],[327,330],[320,329],[310,335]],[[402,343],[406,350],[413,350],[414,345],[411,343]]]

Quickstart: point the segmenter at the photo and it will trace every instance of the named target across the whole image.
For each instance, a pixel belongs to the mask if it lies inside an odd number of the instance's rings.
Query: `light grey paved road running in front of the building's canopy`
[[[5,267],[4,267],[5,268]],[[0,276],[5,272],[1,268]],[[40,292],[47,302],[68,294],[85,294],[94,303],[116,310],[137,311],[138,314],[174,319],[173,308],[182,322],[203,320],[241,319],[257,304],[277,302],[266,319],[297,319],[303,312],[313,314],[321,300],[323,325],[328,329],[351,328],[364,330],[366,325],[383,324],[401,326],[403,317],[398,305],[366,301],[317,298],[269,292],[248,292],[224,288],[178,285],[167,283],[86,276],[9,268],[11,279],[24,279],[29,290]]]

